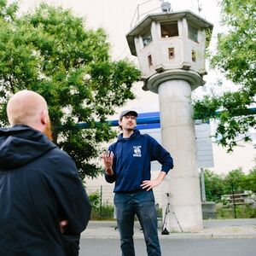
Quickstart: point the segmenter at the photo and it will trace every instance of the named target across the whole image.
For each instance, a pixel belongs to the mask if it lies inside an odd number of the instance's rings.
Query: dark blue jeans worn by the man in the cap
[[[136,214],[143,228],[148,256],[160,256],[153,191],[116,193],[114,195],[114,205],[120,233],[122,255],[135,256],[133,226]]]

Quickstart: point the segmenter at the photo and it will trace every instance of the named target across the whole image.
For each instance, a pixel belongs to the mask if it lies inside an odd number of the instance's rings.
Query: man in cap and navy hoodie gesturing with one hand
[[[173,167],[172,157],[153,137],[135,129],[137,112],[120,113],[122,129],[116,143],[102,155],[108,183],[115,183],[114,205],[123,256],[134,256],[133,225],[135,214],[143,228],[148,256],[160,256],[157,216],[152,189],[162,182]],[[151,180],[150,161],[162,165],[159,176]]]

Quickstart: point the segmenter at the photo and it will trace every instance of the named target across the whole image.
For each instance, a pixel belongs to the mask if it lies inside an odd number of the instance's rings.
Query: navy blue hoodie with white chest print
[[[150,162],[158,160],[161,171],[173,167],[172,157],[160,143],[148,134],[135,130],[131,137],[120,134],[116,143],[108,148],[113,152],[113,176],[105,175],[108,183],[115,182],[113,192],[132,192],[141,189],[143,180],[150,180]]]

